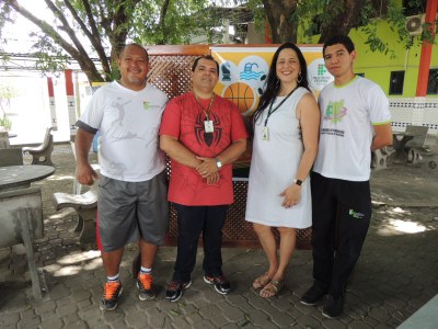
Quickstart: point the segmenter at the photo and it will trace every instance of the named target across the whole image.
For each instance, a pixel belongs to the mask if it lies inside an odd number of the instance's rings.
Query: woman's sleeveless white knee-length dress
[[[293,183],[303,154],[301,129],[296,116],[297,104],[309,92],[298,88],[268,120],[269,140],[262,139],[268,113],[254,126],[253,155],[246,201],[246,220],[273,227],[307,228],[312,225],[310,177],[301,185],[301,198],[290,208],[281,206],[280,193]],[[277,97],[273,110],[285,99]],[[303,109],[306,111],[306,109]]]

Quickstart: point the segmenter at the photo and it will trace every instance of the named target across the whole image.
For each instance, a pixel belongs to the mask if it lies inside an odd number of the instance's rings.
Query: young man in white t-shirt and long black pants
[[[334,82],[319,97],[320,146],[311,175],[313,285],[301,303],[314,305],[325,294],[323,315],[343,311],[344,294],[371,218],[371,150],[392,144],[389,101],[374,82],[356,76],[355,46],[348,36],[323,46]]]

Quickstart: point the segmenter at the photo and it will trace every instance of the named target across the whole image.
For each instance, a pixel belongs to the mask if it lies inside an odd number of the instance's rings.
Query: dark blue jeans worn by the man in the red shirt
[[[203,232],[206,275],[222,275],[222,228],[228,205],[185,206],[174,204],[177,213],[178,237],[173,281],[188,282],[196,264],[196,251]]]

